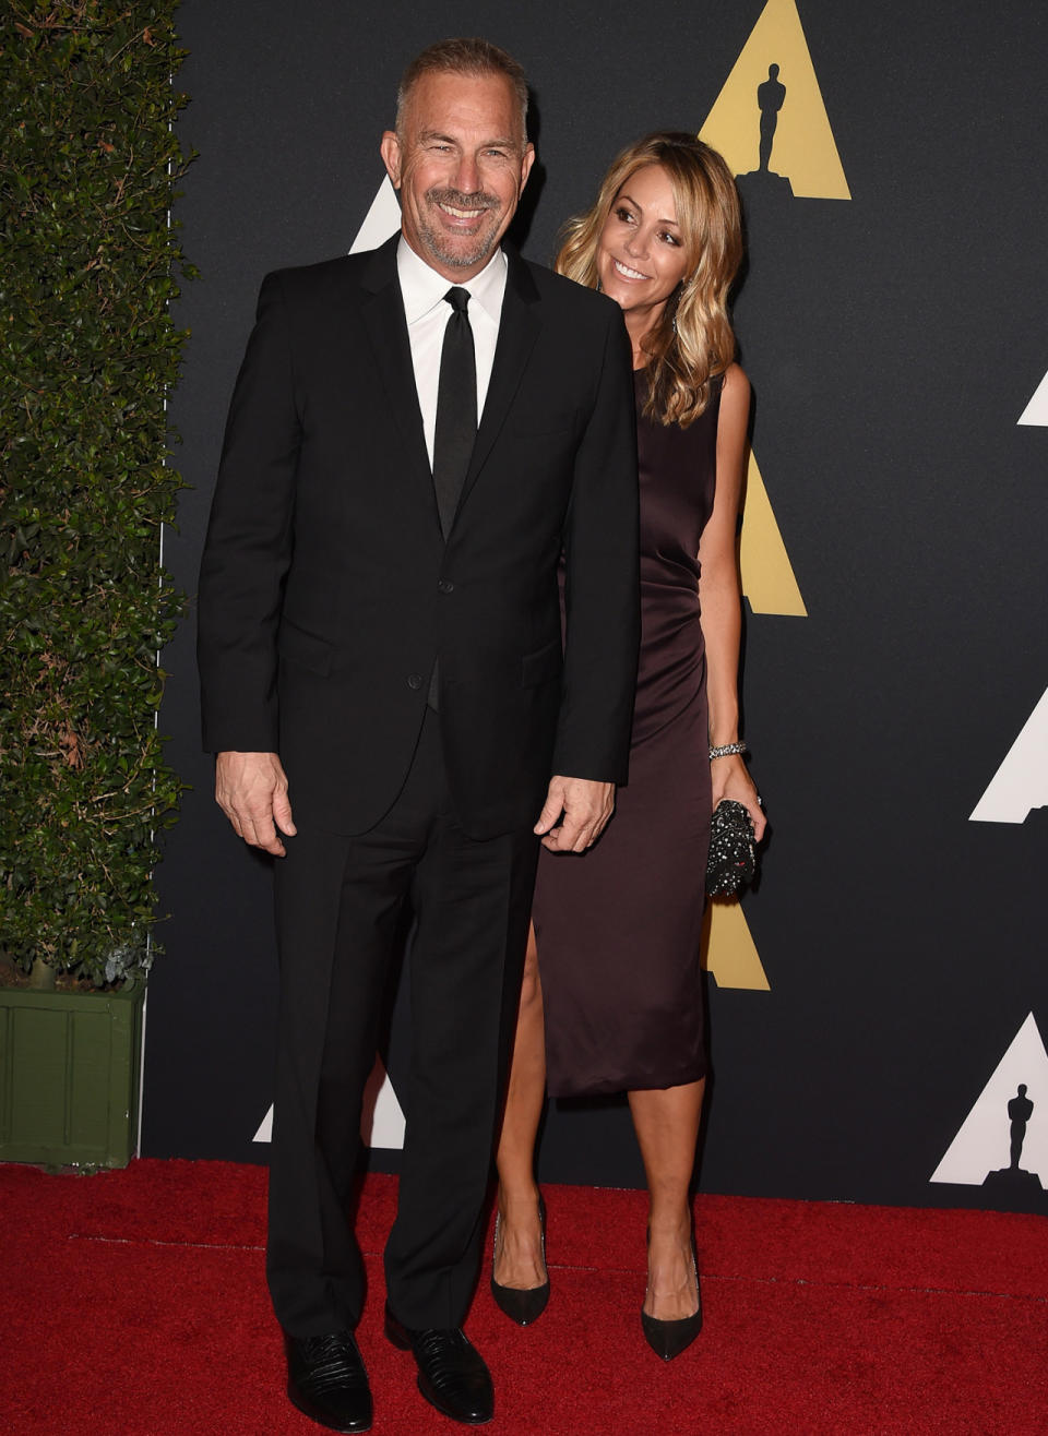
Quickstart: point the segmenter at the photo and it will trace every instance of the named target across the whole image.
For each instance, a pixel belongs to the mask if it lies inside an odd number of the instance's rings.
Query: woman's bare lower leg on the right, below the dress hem
[[[644,1311],[658,1321],[679,1321],[696,1311],[690,1186],[704,1087],[704,1081],[693,1081],[630,1093],[650,1199]]]

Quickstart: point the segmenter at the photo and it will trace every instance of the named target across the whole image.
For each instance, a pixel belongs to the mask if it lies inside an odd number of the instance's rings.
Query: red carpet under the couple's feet
[[[359,1330],[378,1436],[450,1436],[381,1335],[395,1179],[372,1176]],[[493,1432],[804,1436],[1048,1432],[1041,1216],[700,1196],[706,1327],[644,1346],[645,1198],[546,1188],[553,1295],[518,1330],[469,1320]],[[0,1166],[0,1429],[9,1436],[316,1436],[282,1390],[263,1279],[265,1172],[137,1162],[91,1178]]]

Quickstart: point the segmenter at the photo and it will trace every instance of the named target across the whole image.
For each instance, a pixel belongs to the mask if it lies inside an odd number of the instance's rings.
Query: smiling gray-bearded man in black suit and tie
[[[630,348],[614,304],[500,247],[533,161],[526,101],[483,40],[408,67],[382,138],[401,234],[263,283],[200,577],[217,801],[280,859],[270,1292],[289,1396],[344,1432],[371,1422],[345,1206],[401,910],[387,1335],[434,1406],[476,1423],[493,1396],[461,1323],[538,843],[582,852],[625,777]]]

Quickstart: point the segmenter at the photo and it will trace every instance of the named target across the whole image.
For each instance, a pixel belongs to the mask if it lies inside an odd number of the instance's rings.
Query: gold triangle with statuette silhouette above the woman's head
[[[851,198],[795,0],[768,0],[699,138],[736,175],[769,187],[782,175],[809,200]]]

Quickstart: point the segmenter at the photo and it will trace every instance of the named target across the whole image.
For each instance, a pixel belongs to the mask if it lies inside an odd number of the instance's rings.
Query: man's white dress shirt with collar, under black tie
[[[451,289],[453,281],[430,269],[403,234],[397,246],[397,277],[404,297],[426,451],[430,455],[430,468],[433,468],[440,350],[444,345],[444,327],[451,317],[451,306],[444,300],[444,294]],[[506,256],[502,250],[496,250],[484,269],[473,279],[463,280],[459,287],[467,289],[470,294],[469,320],[473,329],[473,350],[477,363],[477,422],[480,422],[495,363],[502,300],[506,293]]]

